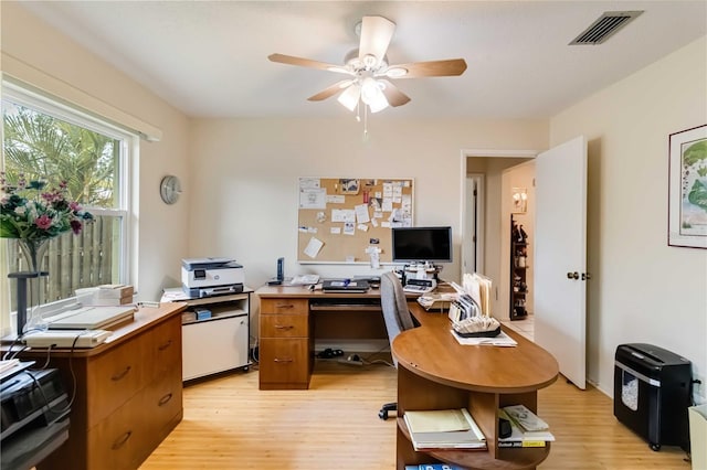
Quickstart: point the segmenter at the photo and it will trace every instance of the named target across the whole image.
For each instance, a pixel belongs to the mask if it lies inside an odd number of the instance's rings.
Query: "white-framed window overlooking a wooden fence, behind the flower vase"
[[[3,83],[2,170],[9,183],[18,179],[66,184],[68,196],[95,221],[80,235],[52,238],[42,257],[39,302],[73,297],[77,288],[128,282],[129,163],[139,139],[59,100]],[[12,238],[0,238],[0,276],[27,270]],[[8,289],[3,319],[15,309],[15,286]],[[4,292],[3,292],[4,293]],[[28,299],[35,303],[34,299]],[[30,305],[31,307],[31,305]]]

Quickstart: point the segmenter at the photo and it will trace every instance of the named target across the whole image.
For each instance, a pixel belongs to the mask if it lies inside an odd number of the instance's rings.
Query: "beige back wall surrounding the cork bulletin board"
[[[190,252],[235,257],[252,286],[275,275],[279,256],[287,276],[366,274],[367,266],[296,263],[297,178],[413,178],[414,222],[453,227],[454,263],[442,276],[458,280],[462,149],[546,148],[547,132],[545,120],[374,116],[363,141],[361,126],[348,114],[341,119],[197,120],[191,174],[202,190],[191,197]]]

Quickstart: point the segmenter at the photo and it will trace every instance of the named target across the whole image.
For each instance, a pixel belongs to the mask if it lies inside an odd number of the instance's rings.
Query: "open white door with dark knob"
[[[587,376],[587,140],[536,159],[535,342],[579,388]]]

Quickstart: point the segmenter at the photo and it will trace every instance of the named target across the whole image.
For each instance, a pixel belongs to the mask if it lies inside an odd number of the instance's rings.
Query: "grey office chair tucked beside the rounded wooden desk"
[[[391,352],[393,340],[401,331],[410,330],[418,327],[410,310],[408,309],[408,299],[402,290],[402,284],[394,273],[384,273],[380,278],[380,303],[383,310],[383,319],[386,320],[386,329],[388,330],[388,340],[390,341]],[[398,367],[398,361],[393,356],[393,363]],[[378,417],[388,419],[388,412],[398,409],[397,403],[387,403],[378,412]]]

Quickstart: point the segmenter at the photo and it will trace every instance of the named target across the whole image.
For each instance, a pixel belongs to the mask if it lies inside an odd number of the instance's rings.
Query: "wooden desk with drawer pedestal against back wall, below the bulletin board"
[[[306,389],[314,339],[387,339],[380,291],[330,293],[304,287],[255,291],[260,312],[260,389]]]

